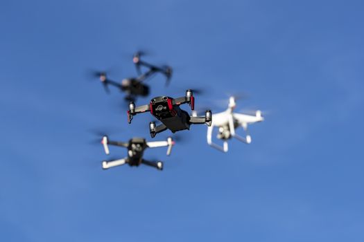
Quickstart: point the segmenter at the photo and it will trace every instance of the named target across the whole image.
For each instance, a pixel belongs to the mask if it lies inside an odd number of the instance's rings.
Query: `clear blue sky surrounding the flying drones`
[[[364,241],[363,23],[362,1],[1,1],[1,241]],[[135,75],[138,48],[175,67],[152,95],[248,93],[252,144],[195,126],[146,151],[162,172],[103,171],[88,131],[148,138],[147,115],[85,73]]]

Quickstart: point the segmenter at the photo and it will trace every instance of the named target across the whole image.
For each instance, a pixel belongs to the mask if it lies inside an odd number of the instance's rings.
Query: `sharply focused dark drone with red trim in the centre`
[[[156,126],[154,121],[149,123],[149,131],[152,138],[154,138],[157,133],[161,133],[166,129],[175,133],[176,131],[189,129],[191,124],[207,124],[207,126],[211,126],[212,113],[210,110],[205,112],[205,116],[191,116],[187,111],[180,109],[180,105],[186,103],[191,106],[191,110],[194,109],[195,97],[193,97],[193,91],[191,89],[186,91],[184,97],[154,97],[150,100],[149,104],[143,106],[135,107],[135,103],[130,102],[128,123],[130,124],[132,122],[134,115],[149,111],[157,120],[162,122],[162,124],[159,124],[158,126]]]

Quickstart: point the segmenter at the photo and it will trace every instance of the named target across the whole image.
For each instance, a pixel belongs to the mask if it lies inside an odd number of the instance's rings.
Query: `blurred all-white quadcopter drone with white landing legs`
[[[248,133],[248,124],[253,124],[254,122],[261,122],[264,118],[261,116],[261,111],[256,111],[255,115],[248,115],[243,113],[234,113],[234,109],[236,106],[235,98],[229,98],[229,105],[226,111],[221,113],[216,113],[213,116],[213,120],[211,126],[207,127],[207,144],[219,151],[227,152],[228,145],[227,140],[234,137],[241,142],[245,142],[246,144],[250,144],[252,142],[252,138]],[[223,140],[223,147],[216,145],[212,142],[212,131],[214,127],[218,127],[218,135],[217,138]],[[243,127],[246,136],[241,137],[237,133],[235,133],[235,129],[238,127]]]

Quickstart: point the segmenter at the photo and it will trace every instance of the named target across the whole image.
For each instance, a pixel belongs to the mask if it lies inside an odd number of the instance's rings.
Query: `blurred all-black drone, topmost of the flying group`
[[[150,79],[157,73],[162,73],[166,76],[166,85],[168,85],[172,77],[173,69],[171,66],[154,66],[153,64],[149,64],[141,60],[141,55],[143,53],[137,52],[132,58],[132,62],[134,62],[137,68],[138,77],[125,78],[119,83],[110,80],[105,72],[96,72],[94,75],[100,79],[107,93],[110,93],[109,86],[115,86],[120,91],[126,93],[125,100],[127,101],[135,101],[137,96],[146,97],[149,95],[149,86],[144,84],[144,81]],[[148,68],[148,71],[142,73],[141,67]]]

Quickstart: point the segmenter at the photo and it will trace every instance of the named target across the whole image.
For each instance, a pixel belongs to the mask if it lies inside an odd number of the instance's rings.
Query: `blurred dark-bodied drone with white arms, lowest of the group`
[[[132,138],[129,140],[129,142],[118,142],[109,140],[107,136],[103,136],[101,144],[103,144],[103,148],[107,155],[110,153],[109,145],[125,147],[126,149],[128,149],[128,156],[123,159],[111,161],[104,160],[103,169],[109,169],[111,167],[125,164],[130,165],[130,167],[138,167],[139,165],[144,164],[150,167],[155,167],[162,171],[163,162],[144,160],[144,150],[147,148],[168,147],[167,156],[169,156],[171,154],[172,146],[175,145],[175,142],[172,140],[171,137],[168,137],[166,141],[146,142],[144,138]]]

